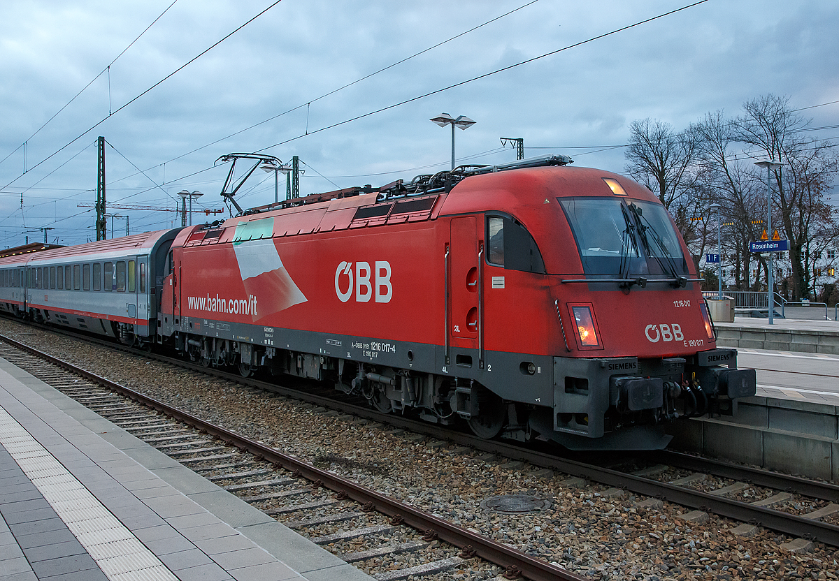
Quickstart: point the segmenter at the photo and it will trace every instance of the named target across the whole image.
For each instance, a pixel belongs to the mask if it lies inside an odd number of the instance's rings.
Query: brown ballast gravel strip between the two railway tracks
[[[839,552],[819,542],[800,543],[805,547],[801,550],[794,538],[762,527],[743,527],[743,523],[714,515],[688,521],[685,516],[691,511],[682,506],[653,501],[647,505],[660,508],[645,508],[639,504],[647,500],[643,497],[416,438],[231,381],[80,344],[13,320],[0,319],[0,332],[586,577],[616,581],[839,579]],[[713,482],[705,480],[697,486],[713,487]],[[533,495],[550,501],[550,507],[512,515],[482,508],[483,501],[498,495]],[[800,506],[799,510],[809,508]],[[339,522],[317,527],[315,534],[354,527]],[[327,548],[352,552],[362,544],[356,539]],[[377,566],[386,563],[393,569],[422,559],[404,553],[376,561]],[[365,563],[355,564],[364,569]],[[498,568],[466,560],[446,573],[424,578],[459,581],[496,578],[499,573]]]

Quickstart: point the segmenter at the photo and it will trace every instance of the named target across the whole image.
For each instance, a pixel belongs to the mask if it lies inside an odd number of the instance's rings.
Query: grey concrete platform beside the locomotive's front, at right
[[[839,482],[839,322],[823,308],[787,311],[771,325],[741,316],[715,323],[717,346],[736,348],[737,365],[758,370],[757,394],[738,400],[733,416],[669,425],[671,447]]]

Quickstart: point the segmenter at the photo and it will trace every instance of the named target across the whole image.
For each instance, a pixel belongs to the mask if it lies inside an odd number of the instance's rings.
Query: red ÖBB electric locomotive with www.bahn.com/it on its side
[[[753,370],[717,349],[664,206],[564,156],[463,167],[178,233],[157,340],[206,365],[333,381],[484,438],[653,449],[731,413]]]

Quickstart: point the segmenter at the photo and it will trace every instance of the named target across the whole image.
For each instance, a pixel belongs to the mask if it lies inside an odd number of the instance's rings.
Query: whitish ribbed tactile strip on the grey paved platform
[[[76,477],[0,407],[0,444],[112,581],[177,581]]]

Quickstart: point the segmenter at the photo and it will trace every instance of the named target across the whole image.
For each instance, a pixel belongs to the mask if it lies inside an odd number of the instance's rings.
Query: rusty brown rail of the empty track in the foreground
[[[483,537],[477,532],[472,532],[463,527],[434,516],[429,512],[422,511],[414,506],[407,505],[403,502],[397,501],[387,495],[382,495],[375,490],[369,489],[366,486],[359,485],[352,480],[341,478],[341,476],[332,474],[323,469],[319,469],[312,464],[308,464],[300,459],[296,459],[288,454],[283,454],[278,449],[271,448],[265,444],[260,444],[249,438],[242,436],[227,428],[216,426],[213,423],[206,422],[201,418],[197,418],[188,412],[169,406],[164,402],[160,402],[153,397],[148,397],[140,392],[136,392],[126,386],[109,381],[102,376],[98,376],[91,371],[86,371],[80,367],[71,365],[70,363],[60,360],[57,357],[48,355],[39,350],[24,345],[18,341],[9,339],[0,335],[0,340],[13,345],[18,349],[25,350],[45,361],[50,361],[62,369],[72,371],[89,381],[93,381],[108,390],[120,393],[125,397],[129,397],[135,402],[142,403],[145,406],[151,407],[157,412],[173,418],[179,422],[187,423],[194,428],[205,432],[211,436],[221,439],[228,444],[236,446],[238,449],[248,450],[251,454],[262,457],[271,464],[282,466],[284,469],[292,472],[294,476],[302,476],[307,480],[314,482],[315,486],[327,488],[336,492],[339,497],[350,498],[353,501],[361,503],[367,510],[376,510],[384,515],[390,516],[394,523],[405,524],[413,527],[420,532],[425,532],[428,537],[436,537],[442,541],[449,542],[452,545],[469,551],[471,547],[475,555],[486,559],[491,563],[495,563],[500,567],[506,568],[511,578],[514,576],[524,576],[525,578],[533,579],[533,581],[556,581],[562,579],[563,581],[586,581],[586,577],[571,573],[564,568],[557,567],[537,558],[530,557],[524,552],[520,552],[512,547],[508,547],[500,542],[492,541],[487,537]]]

